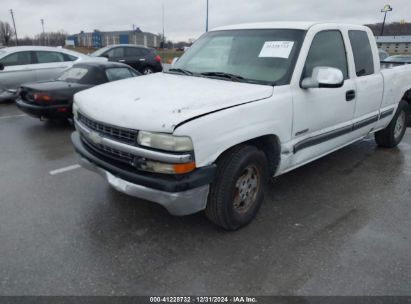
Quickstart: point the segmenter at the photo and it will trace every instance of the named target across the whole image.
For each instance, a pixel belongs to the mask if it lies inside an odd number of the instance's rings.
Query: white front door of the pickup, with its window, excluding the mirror
[[[306,38],[306,43],[309,39]],[[343,73],[344,84],[339,88],[311,89],[294,85],[292,152],[295,166],[350,140],[356,97],[355,82],[349,76],[346,51],[340,30],[320,30],[313,35],[299,80],[310,77],[315,67],[333,67]]]

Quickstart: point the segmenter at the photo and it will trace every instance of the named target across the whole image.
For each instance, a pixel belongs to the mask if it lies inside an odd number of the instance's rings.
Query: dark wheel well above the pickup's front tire
[[[278,165],[280,163],[280,156],[281,156],[281,144],[280,144],[279,138],[276,135],[260,136],[260,137],[253,138],[245,142],[239,143],[236,146],[239,146],[239,145],[255,146],[259,150],[263,151],[268,160],[270,174],[271,175],[275,174],[278,168]],[[229,150],[231,150],[232,148],[234,147],[231,147]],[[221,153],[219,158],[221,158],[221,156],[225,154],[226,151]]]

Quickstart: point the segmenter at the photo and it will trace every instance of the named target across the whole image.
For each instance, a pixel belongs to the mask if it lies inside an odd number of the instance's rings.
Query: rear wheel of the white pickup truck
[[[377,145],[384,148],[396,147],[404,137],[410,117],[410,107],[405,100],[401,100],[390,124],[383,130],[375,133]]]

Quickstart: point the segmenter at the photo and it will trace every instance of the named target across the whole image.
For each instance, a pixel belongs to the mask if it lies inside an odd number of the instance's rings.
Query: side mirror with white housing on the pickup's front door
[[[330,67],[315,67],[311,77],[301,81],[301,88],[341,88],[344,84],[344,75],[341,70]]]

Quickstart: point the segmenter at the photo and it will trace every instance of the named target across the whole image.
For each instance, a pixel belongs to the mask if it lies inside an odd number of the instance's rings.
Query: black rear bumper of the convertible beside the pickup
[[[16,105],[24,113],[36,118],[69,118],[72,116],[71,105],[68,104],[41,106],[26,103],[19,98],[16,100]]]

